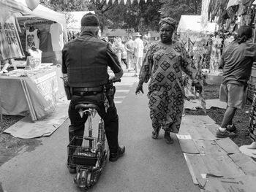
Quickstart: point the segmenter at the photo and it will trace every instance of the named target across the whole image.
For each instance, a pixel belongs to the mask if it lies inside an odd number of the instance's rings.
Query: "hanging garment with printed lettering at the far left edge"
[[[0,17],[1,59],[24,57],[17,27],[14,16],[11,16],[7,20]]]

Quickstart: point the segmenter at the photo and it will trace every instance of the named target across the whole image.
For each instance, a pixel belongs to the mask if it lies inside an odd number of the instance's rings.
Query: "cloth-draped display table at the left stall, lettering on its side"
[[[28,115],[38,120],[55,110],[64,96],[61,68],[11,71],[0,75],[1,108],[4,115]]]

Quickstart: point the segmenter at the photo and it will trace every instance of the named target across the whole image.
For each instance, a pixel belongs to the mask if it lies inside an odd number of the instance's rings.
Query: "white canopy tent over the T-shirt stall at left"
[[[18,18],[18,23],[21,29],[21,33],[18,35],[21,45],[20,48],[25,50],[25,42],[26,37],[23,35],[23,31],[26,29],[26,23],[30,25],[37,25],[37,28],[40,33],[40,44],[39,48],[42,50],[42,62],[45,63],[61,63],[61,53],[59,50],[53,51],[52,47],[52,39],[50,31],[50,25],[53,22],[59,23],[63,28],[63,37],[64,42],[67,42],[67,23],[65,14],[55,12],[48,7],[44,7],[41,4],[36,4],[37,7],[34,6],[33,10],[29,8],[27,2],[37,2],[37,0],[0,0],[0,18],[10,18],[11,15],[15,15]],[[31,5],[31,4],[29,4]],[[56,31],[56,33],[59,33]],[[6,57],[5,57],[6,58]],[[20,57],[12,57],[12,58],[20,58]]]

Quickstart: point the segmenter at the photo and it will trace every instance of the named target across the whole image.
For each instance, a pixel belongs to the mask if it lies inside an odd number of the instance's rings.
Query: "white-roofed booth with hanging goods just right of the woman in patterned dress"
[[[216,66],[219,51],[215,45],[218,41],[212,38],[218,25],[209,21],[202,25],[203,17],[203,15],[181,15],[177,33],[195,65],[203,72],[204,81],[210,85],[219,85],[222,81],[222,73]]]

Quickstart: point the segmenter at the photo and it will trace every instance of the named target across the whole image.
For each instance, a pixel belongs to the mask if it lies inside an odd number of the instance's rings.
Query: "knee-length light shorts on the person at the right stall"
[[[219,101],[227,103],[228,107],[241,109],[246,103],[247,89],[244,85],[221,84],[219,88]]]

